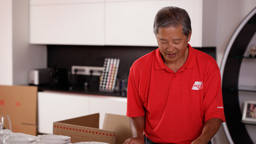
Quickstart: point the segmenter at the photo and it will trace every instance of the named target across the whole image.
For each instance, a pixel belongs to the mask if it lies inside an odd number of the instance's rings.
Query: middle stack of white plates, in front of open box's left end
[[[38,135],[38,144],[70,144],[71,137],[55,134]]]

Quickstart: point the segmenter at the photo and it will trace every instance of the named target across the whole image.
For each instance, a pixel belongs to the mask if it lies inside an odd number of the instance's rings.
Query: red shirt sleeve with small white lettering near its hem
[[[217,67],[217,66],[216,66]],[[218,68],[206,75],[205,92],[203,100],[204,121],[212,118],[219,118],[223,122],[225,120],[222,90],[221,90],[221,76]]]

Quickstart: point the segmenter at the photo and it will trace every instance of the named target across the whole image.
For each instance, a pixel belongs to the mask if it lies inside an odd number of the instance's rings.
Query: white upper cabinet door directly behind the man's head
[[[156,13],[163,7],[184,8],[192,24],[192,46],[200,45],[200,0],[106,0],[106,45],[157,46],[153,33]]]

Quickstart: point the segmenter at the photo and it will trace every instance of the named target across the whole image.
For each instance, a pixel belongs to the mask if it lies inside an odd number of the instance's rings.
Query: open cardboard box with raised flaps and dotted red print
[[[123,144],[132,137],[128,117],[106,114],[102,129],[99,129],[99,118],[97,113],[54,122],[53,134],[70,136],[71,143],[94,141]]]

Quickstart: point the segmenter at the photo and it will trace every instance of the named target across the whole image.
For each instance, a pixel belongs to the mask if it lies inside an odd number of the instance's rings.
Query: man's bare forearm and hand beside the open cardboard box
[[[145,126],[145,117],[130,118],[132,138],[127,139],[124,144],[144,144],[143,129]]]

